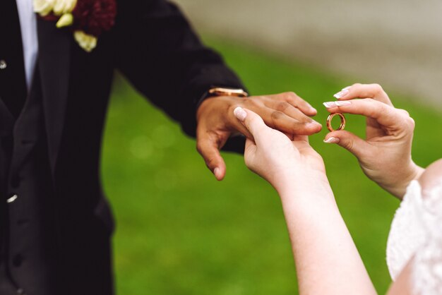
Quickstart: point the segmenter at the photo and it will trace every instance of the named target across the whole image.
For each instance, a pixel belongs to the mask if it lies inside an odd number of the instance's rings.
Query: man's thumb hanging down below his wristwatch
[[[220,155],[220,148],[225,143],[215,133],[203,131],[202,128],[197,129],[196,138],[196,149],[203,157],[208,169],[212,171],[217,180],[224,179],[226,165]]]

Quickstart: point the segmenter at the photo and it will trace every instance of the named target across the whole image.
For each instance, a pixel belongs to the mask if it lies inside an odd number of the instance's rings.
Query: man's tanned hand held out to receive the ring
[[[316,115],[316,109],[293,92],[252,97],[210,97],[201,104],[196,114],[196,147],[217,180],[225,176],[226,167],[220,148],[229,136],[239,132],[253,139],[235,118],[233,110],[237,107],[250,109],[261,116],[265,124],[287,134],[309,136],[322,128],[309,117]]]

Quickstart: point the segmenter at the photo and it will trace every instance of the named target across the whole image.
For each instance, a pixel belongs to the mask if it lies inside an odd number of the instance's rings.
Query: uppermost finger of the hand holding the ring
[[[338,100],[353,100],[354,98],[371,98],[378,102],[383,102],[393,106],[387,93],[379,84],[360,84],[356,83],[352,86],[342,89],[333,95]]]

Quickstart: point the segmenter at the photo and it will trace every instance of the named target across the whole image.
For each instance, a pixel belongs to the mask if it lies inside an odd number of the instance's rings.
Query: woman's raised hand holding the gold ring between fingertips
[[[402,198],[410,181],[423,171],[411,157],[414,120],[407,111],[395,109],[377,84],[354,84],[335,97],[338,101],[324,103],[328,112],[366,116],[366,139],[348,131],[333,131],[324,142],[352,152],[369,179]]]

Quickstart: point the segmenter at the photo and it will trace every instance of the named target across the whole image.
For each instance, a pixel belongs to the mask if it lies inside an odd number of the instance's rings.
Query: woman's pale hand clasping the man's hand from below
[[[307,136],[289,136],[270,128],[249,109],[237,107],[234,114],[253,136],[253,140],[246,140],[246,166],[280,194],[294,187],[302,189],[307,183],[318,183],[318,179],[327,182],[323,159],[311,148]]]

